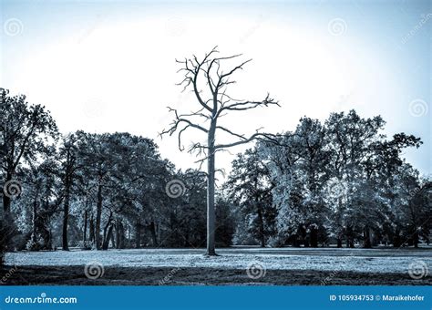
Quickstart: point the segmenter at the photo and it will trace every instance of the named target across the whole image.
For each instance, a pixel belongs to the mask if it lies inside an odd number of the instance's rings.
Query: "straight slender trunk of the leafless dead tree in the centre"
[[[214,120],[211,122],[211,129],[209,130],[208,137],[208,160],[207,160],[207,255],[216,255],[214,233],[215,233],[215,212],[214,212],[214,139],[216,123]]]

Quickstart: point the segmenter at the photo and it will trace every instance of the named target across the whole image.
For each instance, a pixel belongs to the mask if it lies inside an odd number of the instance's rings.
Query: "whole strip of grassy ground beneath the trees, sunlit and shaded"
[[[216,257],[203,253],[202,249],[7,253],[3,284],[432,284],[431,249],[239,247],[220,249]],[[97,279],[87,278],[86,265],[90,277],[93,272]],[[413,279],[408,273],[413,267],[424,276]]]

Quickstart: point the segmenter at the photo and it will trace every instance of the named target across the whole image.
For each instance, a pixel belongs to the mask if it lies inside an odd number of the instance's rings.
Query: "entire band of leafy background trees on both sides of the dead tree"
[[[45,107],[0,91],[2,253],[205,246],[205,172],[127,132],[61,133]],[[430,243],[432,181],[403,158],[422,141],[385,125],[303,117],[238,154],[217,184],[216,245]]]

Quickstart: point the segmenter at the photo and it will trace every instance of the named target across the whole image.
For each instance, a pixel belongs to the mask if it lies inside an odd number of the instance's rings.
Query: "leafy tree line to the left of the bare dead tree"
[[[1,90],[2,246],[7,250],[201,247],[206,177],[176,170],[153,140],[78,130]],[[172,187],[167,187],[172,183]],[[217,201],[220,246],[234,227]]]

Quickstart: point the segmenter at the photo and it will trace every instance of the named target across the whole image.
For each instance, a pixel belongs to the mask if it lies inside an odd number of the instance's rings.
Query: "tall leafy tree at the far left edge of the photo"
[[[23,183],[18,175],[22,175],[20,171],[23,163],[36,162],[39,155],[49,151],[50,142],[56,139],[56,123],[43,106],[30,105],[26,102],[26,96],[12,97],[9,96],[9,90],[0,88],[0,180],[3,202],[0,212],[0,261],[1,253],[12,248],[12,236],[18,233],[14,217],[10,214],[13,196],[6,194],[11,189],[9,185],[12,184],[14,194],[19,195]]]

